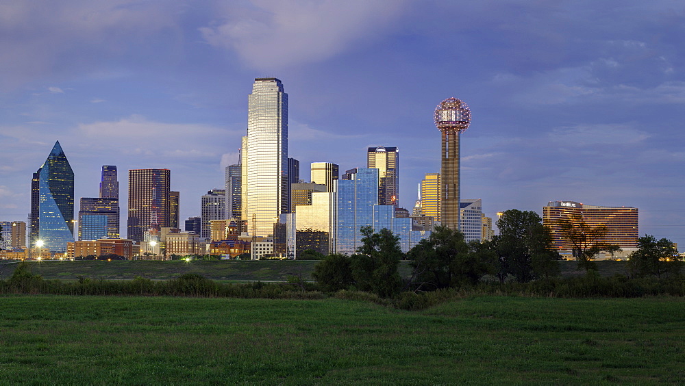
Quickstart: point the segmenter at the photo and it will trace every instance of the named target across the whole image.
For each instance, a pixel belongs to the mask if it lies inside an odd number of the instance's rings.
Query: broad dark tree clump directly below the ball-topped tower
[[[411,282],[416,289],[476,285],[484,275],[495,273],[497,261],[489,242],[466,244],[460,231],[445,226],[436,227],[408,257],[413,260]]]

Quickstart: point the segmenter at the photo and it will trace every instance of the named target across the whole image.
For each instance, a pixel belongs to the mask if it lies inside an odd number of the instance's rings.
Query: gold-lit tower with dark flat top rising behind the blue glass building
[[[378,205],[399,205],[399,149],[370,147],[366,167],[378,169]]]

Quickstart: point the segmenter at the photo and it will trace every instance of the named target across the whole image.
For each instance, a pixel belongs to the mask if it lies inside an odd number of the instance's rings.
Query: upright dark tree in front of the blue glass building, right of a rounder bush
[[[399,237],[388,229],[373,232],[371,227],[362,227],[362,246],[350,257],[352,277],[358,289],[375,292],[389,297],[397,294],[402,279],[397,272],[403,257]]]

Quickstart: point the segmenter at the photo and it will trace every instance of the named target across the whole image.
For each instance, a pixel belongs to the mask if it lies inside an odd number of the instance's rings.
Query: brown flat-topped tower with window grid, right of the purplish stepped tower
[[[148,229],[169,227],[169,169],[129,170],[128,238],[142,241]]]

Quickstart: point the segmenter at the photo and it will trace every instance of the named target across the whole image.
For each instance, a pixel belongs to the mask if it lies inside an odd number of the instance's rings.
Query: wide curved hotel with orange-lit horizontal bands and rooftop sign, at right
[[[562,233],[559,220],[573,222],[577,218],[584,221],[588,227],[606,227],[606,239],[599,241],[615,244],[621,248],[637,248],[638,208],[602,207],[575,201],[549,201],[543,207],[543,224],[551,231],[553,248],[573,249],[573,244],[566,240]]]

